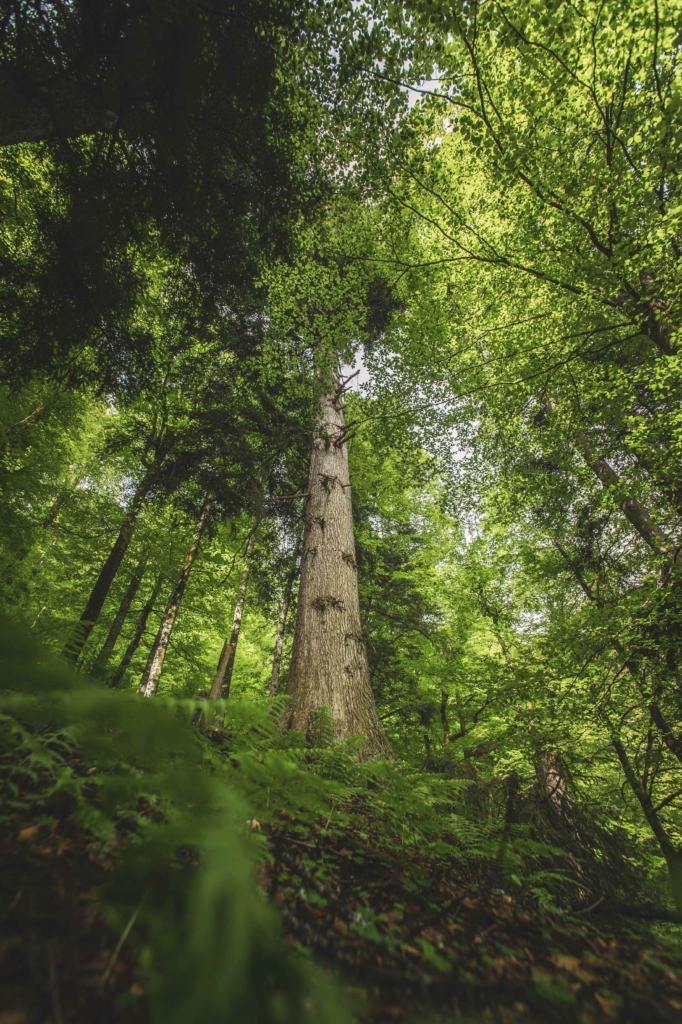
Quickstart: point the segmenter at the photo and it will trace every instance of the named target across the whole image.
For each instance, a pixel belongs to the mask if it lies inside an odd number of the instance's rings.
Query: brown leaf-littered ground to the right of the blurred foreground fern
[[[494,866],[465,874],[352,835],[296,831],[270,836],[260,884],[291,941],[354,979],[363,1017],[682,1020],[682,965],[650,927],[541,913],[504,892]]]

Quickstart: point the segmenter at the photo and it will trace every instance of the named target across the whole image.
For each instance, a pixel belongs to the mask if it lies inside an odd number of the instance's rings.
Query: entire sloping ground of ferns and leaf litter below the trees
[[[6,626],[2,670],[6,1024],[679,1020],[680,915],[578,808],[282,736],[282,698],[140,706]]]

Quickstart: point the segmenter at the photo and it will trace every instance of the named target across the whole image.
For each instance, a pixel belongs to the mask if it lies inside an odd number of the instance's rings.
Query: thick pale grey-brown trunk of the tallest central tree
[[[301,583],[283,728],[310,734],[327,708],[337,740],[363,734],[363,758],[392,757],[370,683],[355,567],[347,431],[340,389],[319,399],[310,456]]]

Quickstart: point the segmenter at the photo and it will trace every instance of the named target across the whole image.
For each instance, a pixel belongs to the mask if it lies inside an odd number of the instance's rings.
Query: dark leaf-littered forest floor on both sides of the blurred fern
[[[357,1024],[682,1020],[682,965],[649,925],[541,913],[502,891],[494,866],[463,873],[281,822],[254,823],[271,851],[258,882]],[[73,818],[6,824],[0,1024],[146,1022],[134,929],[121,944],[96,901],[111,861]]]

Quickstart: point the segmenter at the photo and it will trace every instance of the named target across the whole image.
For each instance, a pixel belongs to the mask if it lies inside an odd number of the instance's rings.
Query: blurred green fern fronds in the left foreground
[[[140,710],[36,658],[6,628],[2,660],[3,830],[28,819],[38,822],[29,834],[54,831],[73,819],[113,862],[103,905],[121,931],[139,910],[159,1019],[343,1019],[322,981],[285,951],[273,911],[256,895],[235,769],[198,740],[194,706]]]

